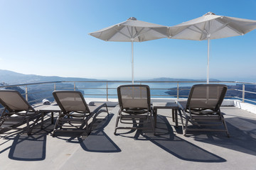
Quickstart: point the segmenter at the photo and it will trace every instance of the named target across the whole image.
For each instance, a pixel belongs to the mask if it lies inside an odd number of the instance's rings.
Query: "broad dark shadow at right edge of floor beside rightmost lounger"
[[[230,138],[225,133],[193,133],[196,141],[256,155],[256,120],[247,118],[225,118]]]

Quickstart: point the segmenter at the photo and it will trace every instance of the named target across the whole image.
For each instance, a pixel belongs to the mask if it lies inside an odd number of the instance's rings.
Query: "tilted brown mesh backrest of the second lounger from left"
[[[80,91],[53,91],[53,97],[65,113],[71,111],[90,113],[85,98]]]

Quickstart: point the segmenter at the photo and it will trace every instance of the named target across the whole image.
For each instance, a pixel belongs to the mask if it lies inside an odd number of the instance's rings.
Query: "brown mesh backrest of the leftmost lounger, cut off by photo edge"
[[[25,98],[15,90],[0,90],[0,103],[10,112],[35,111]]]

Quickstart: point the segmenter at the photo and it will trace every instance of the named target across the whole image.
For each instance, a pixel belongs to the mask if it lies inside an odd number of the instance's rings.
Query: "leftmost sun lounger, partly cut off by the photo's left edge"
[[[0,103],[4,106],[0,117],[0,130],[21,129],[18,127],[26,123],[29,135],[42,116],[18,91],[0,90]],[[33,123],[30,124],[31,120]]]

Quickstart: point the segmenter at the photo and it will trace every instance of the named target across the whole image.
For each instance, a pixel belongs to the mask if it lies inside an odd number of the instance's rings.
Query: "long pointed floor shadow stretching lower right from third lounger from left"
[[[145,133],[142,136],[144,136],[146,140],[153,142],[175,157],[186,161],[226,162],[222,157],[218,157],[218,155],[208,152],[206,149],[174,135],[173,129],[166,117],[159,115],[157,119],[156,135],[153,133]]]

